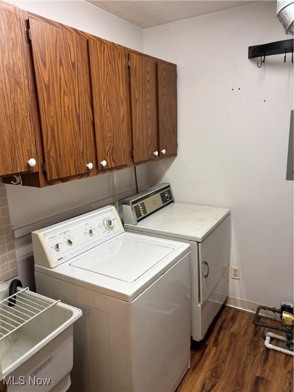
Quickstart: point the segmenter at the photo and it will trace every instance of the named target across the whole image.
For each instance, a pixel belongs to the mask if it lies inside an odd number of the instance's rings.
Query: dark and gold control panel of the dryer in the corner
[[[144,217],[173,202],[173,193],[168,183],[137,193],[122,202],[124,223],[136,225]]]

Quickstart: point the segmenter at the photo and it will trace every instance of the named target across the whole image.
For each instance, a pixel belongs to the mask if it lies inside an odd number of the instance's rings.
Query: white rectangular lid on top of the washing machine
[[[131,283],[173,251],[171,247],[118,237],[70,265]]]

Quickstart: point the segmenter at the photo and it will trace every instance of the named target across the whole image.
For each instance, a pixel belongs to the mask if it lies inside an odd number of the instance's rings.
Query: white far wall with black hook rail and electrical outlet
[[[151,182],[170,182],[177,202],[229,207],[230,295],[279,306],[293,298],[293,68],[289,55],[248,59],[248,46],[290,38],[275,14],[258,2],[146,29],[144,51],[178,64],[178,157],[151,164]]]

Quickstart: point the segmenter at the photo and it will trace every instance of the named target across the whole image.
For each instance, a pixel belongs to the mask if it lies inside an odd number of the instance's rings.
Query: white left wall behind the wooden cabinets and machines
[[[83,1],[12,1],[17,7],[67,24],[101,38],[143,51],[142,29]],[[138,181],[148,181],[146,165],[137,169]],[[111,174],[99,175],[43,189],[7,186],[14,228],[42,220],[112,195]],[[117,171],[118,191],[135,187],[133,169]],[[19,279],[34,287],[31,236],[16,239]]]

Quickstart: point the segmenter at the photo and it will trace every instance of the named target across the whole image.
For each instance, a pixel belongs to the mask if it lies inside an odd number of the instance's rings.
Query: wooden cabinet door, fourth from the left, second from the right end
[[[130,53],[131,113],[134,162],[158,153],[156,63]]]

